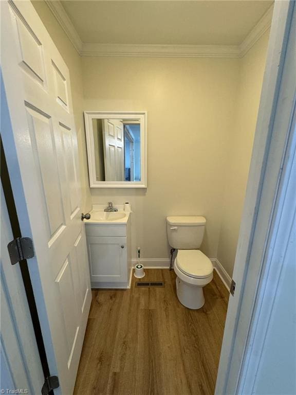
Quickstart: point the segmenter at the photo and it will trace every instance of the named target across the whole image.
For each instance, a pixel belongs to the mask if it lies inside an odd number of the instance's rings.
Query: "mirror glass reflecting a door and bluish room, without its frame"
[[[141,181],[140,121],[93,119],[97,181]]]

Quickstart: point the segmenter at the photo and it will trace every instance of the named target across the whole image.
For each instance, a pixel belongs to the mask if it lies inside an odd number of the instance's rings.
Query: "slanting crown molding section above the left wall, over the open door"
[[[83,43],[60,0],[44,1],[63,28],[64,32],[67,34],[69,40],[71,41],[79,55],[81,55]]]

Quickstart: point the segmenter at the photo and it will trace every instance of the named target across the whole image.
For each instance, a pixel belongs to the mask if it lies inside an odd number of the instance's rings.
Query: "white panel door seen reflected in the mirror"
[[[103,119],[105,181],[124,181],[123,123]]]

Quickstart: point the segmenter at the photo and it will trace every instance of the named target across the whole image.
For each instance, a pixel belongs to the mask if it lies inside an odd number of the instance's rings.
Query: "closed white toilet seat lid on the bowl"
[[[213,273],[210,259],[198,249],[179,249],[175,260],[178,269],[192,278],[207,278]]]

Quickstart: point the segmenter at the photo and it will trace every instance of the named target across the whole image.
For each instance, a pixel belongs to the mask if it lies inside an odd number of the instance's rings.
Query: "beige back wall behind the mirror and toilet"
[[[148,188],[91,188],[93,203],[130,201],[133,253],[168,258],[165,217],[204,215],[201,249],[217,256],[221,190],[238,59],[85,57],[85,110],[147,111]]]

